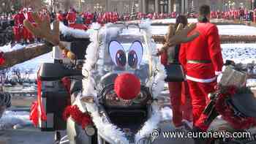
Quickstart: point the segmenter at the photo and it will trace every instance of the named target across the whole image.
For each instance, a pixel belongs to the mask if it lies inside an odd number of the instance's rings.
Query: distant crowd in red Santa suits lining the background
[[[27,29],[23,26],[23,20],[28,19],[31,23],[34,23],[31,13],[33,10],[30,7],[23,8],[14,15],[1,15],[1,21],[13,21],[13,32],[14,32],[14,42],[29,43],[34,41],[39,41],[37,37],[34,37]],[[64,25],[72,27],[74,29],[87,30],[91,23],[116,23],[118,21],[127,20],[142,20],[142,19],[165,19],[165,18],[176,18],[178,12],[170,13],[148,13],[137,12],[136,15],[124,14],[119,15],[118,12],[78,12],[73,8],[70,8],[68,12],[49,12],[47,9],[42,9],[39,11],[40,15],[49,15],[50,21],[60,20]],[[210,14],[211,18],[217,19],[227,19],[227,20],[240,20],[240,21],[254,21],[256,22],[256,9],[246,10],[239,8],[238,10],[228,10],[226,12],[212,11]],[[198,18],[198,14],[189,13],[187,18]]]

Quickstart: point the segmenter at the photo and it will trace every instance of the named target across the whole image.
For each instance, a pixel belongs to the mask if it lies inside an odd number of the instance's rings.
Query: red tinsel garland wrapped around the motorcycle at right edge
[[[256,124],[255,118],[239,118],[234,115],[232,108],[225,104],[225,99],[236,94],[236,87],[230,86],[225,93],[219,94],[219,98],[215,104],[217,112],[222,115],[234,129],[249,129]]]

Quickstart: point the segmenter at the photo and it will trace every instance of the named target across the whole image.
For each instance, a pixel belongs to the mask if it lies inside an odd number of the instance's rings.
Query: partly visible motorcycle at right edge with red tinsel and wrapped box
[[[227,61],[225,70],[217,86],[217,91],[209,94],[210,102],[203,115],[206,124],[211,124],[217,116],[226,121],[214,128],[214,132],[244,132],[243,137],[218,137],[208,141],[211,144],[251,144],[256,136],[256,96],[246,88],[246,71]]]

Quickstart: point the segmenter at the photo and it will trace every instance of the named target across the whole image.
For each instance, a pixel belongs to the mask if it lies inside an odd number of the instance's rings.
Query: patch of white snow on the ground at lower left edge
[[[0,118],[0,130],[12,128],[18,129],[31,124],[32,123],[29,120],[29,112],[24,111],[14,112],[7,110]]]

